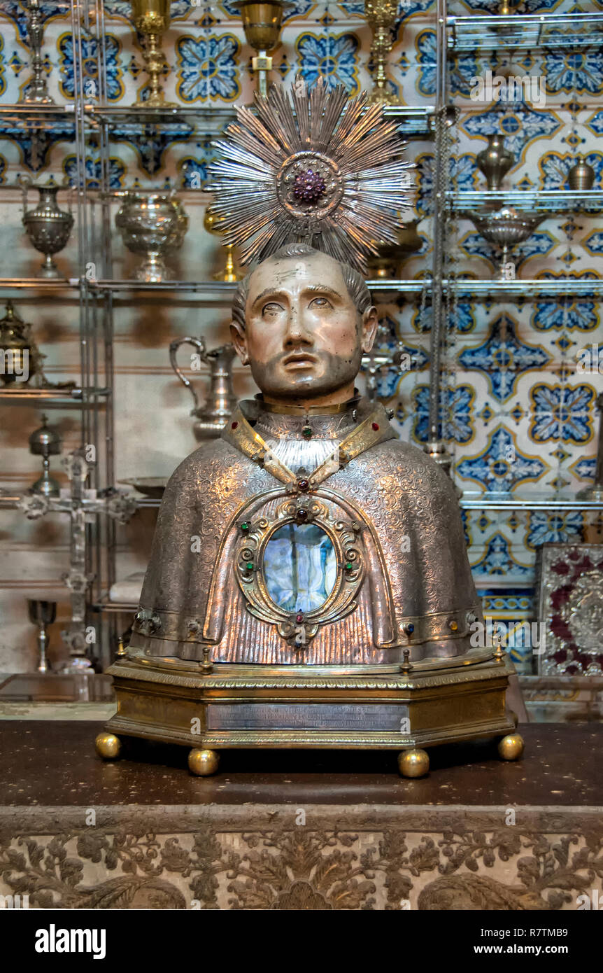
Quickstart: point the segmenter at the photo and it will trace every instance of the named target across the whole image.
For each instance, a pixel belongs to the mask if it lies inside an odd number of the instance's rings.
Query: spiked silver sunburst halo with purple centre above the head
[[[284,243],[305,242],[366,272],[383,241],[395,242],[410,205],[405,143],[368,95],[350,99],[323,78],[301,77],[291,100],[282,87],[256,94],[257,115],[237,121],[215,143],[209,166],[212,211],[241,263],[265,260]]]

